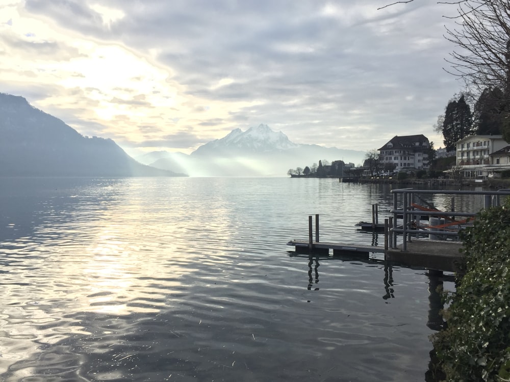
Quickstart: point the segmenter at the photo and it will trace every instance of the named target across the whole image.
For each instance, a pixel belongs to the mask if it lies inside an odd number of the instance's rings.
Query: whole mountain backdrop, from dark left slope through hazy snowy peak
[[[295,144],[267,125],[237,128],[191,154],[136,160],[111,139],[84,137],[20,96],[0,93],[0,176],[285,176],[319,160],[360,163],[362,151]]]

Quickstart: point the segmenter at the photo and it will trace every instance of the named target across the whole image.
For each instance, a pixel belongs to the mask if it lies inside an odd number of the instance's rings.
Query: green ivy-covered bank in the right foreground
[[[464,233],[465,275],[432,336],[447,381],[510,381],[510,201]]]

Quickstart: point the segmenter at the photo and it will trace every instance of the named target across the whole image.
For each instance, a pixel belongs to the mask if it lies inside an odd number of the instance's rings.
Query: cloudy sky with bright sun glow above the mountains
[[[370,150],[433,131],[462,83],[430,0],[0,0],[0,92],[131,154],[267,124]],[[448,8],[450,7],[450,8]]]

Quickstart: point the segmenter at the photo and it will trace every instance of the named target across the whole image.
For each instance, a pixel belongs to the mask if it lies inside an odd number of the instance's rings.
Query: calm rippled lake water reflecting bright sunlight
[[[424,381],[441,279],[286,245],[316,213],[324,241],[384,245],[354,224],[392,200],[335,179],[0,179],[0,380]]]

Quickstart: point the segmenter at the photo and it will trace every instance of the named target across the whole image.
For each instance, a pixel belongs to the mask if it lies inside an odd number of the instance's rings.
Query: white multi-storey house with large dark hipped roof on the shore
[[[429,167],[429,149],[430,143],[423,134],[395,135],[379,149],[379,158],[384,165],[394,165],[395,171],[426,170]]]

